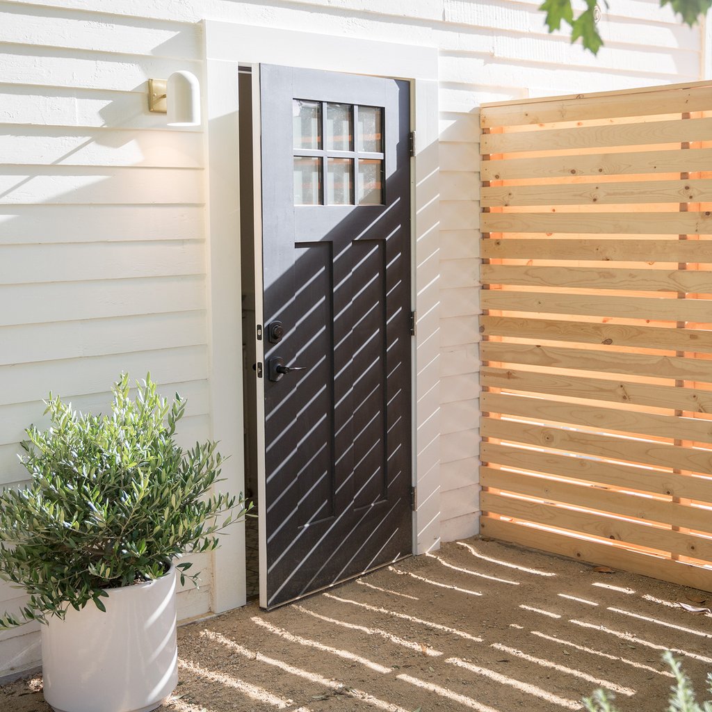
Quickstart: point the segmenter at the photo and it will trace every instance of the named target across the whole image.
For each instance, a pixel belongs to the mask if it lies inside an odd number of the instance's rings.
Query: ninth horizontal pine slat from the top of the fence
[[[484,315],[480,317],[480,333],[485,337],[515,336],[524,339],[712,353],[712,331],[695,329]]]

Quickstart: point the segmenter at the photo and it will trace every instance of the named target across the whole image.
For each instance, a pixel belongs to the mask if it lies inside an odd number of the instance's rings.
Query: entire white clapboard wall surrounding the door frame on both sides
[[[711,56],[656,0],[613,0],[597,58],[549,35],[538,4],[0,1],[0,483],[23,478],[16,443],[49,389],[105,407],[120,370],[189,397],[185,439],[212,434],[204,136],[145,103],[148,78],[203,73],[214,19],[439,49],[441,537],[475,533],[477,107],[698,80]],[[213,605],[210,563],[184,617]],[[16,593],[0,585],[0,607]],[[36,633],[0,634],[0,672],[37,659]]]

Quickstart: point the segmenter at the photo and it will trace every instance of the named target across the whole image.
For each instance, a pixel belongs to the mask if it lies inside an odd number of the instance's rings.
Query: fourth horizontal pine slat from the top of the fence
[[[687,203],[712,201],[712,180],[577,183],[484,187],[483,207],[535,205],[624,205],[635,203]]]

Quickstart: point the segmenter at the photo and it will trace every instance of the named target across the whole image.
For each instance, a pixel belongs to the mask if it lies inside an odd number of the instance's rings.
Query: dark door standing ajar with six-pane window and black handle
[[[412,550],[409,85],[260,82],[273,607]]]

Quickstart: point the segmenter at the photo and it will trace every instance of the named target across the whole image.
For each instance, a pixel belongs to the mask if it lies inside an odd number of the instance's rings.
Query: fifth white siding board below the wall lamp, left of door
[[[204,309],[201,275],[0,285],[0,326]]]

